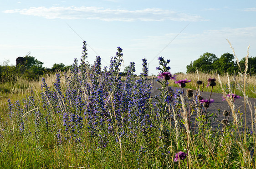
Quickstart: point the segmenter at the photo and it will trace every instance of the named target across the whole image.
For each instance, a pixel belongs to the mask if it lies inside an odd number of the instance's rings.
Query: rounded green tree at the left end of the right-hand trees
[[[190,65],[187,65],[187,73],[195,72],[196,68],[201,72],[210,72],[211,70],[214,70],[213,62],[218,60],[218,58],[212,54],[212,53],[204,53],[199,57],[199,59],[194,60],[190,63]]]

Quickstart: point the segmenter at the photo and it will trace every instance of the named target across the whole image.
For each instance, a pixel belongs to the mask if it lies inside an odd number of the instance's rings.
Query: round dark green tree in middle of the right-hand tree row
[[[233,60],[234,55],[230,53],[225,53],[220,56],[220,59],[213,62],[214,69],[217,71],[218,74],[228,73],[229,75],[231,75],[237,70],[235,62]]]

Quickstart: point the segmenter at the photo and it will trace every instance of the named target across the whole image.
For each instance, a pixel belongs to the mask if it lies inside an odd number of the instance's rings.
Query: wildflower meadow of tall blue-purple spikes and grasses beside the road
[[[256,168],[256,109],[248,100],[255,97],[255,76],[171,75],[170,60],[159,57],[162,88],[154,96],[146,59],[140,75],[131,62],[122,80],[122,48],[108,68],[99,56],[93,65],[86,59],[84,42],[70,71],[0,84],[0,168]],[[200,90],[210,91],[209,98]],[[207,111],[211,92],[223,93],[230,105],[217,114],[223,117],[217,129]],[[250,109],[250,128],[235,111],[239,95]]]

